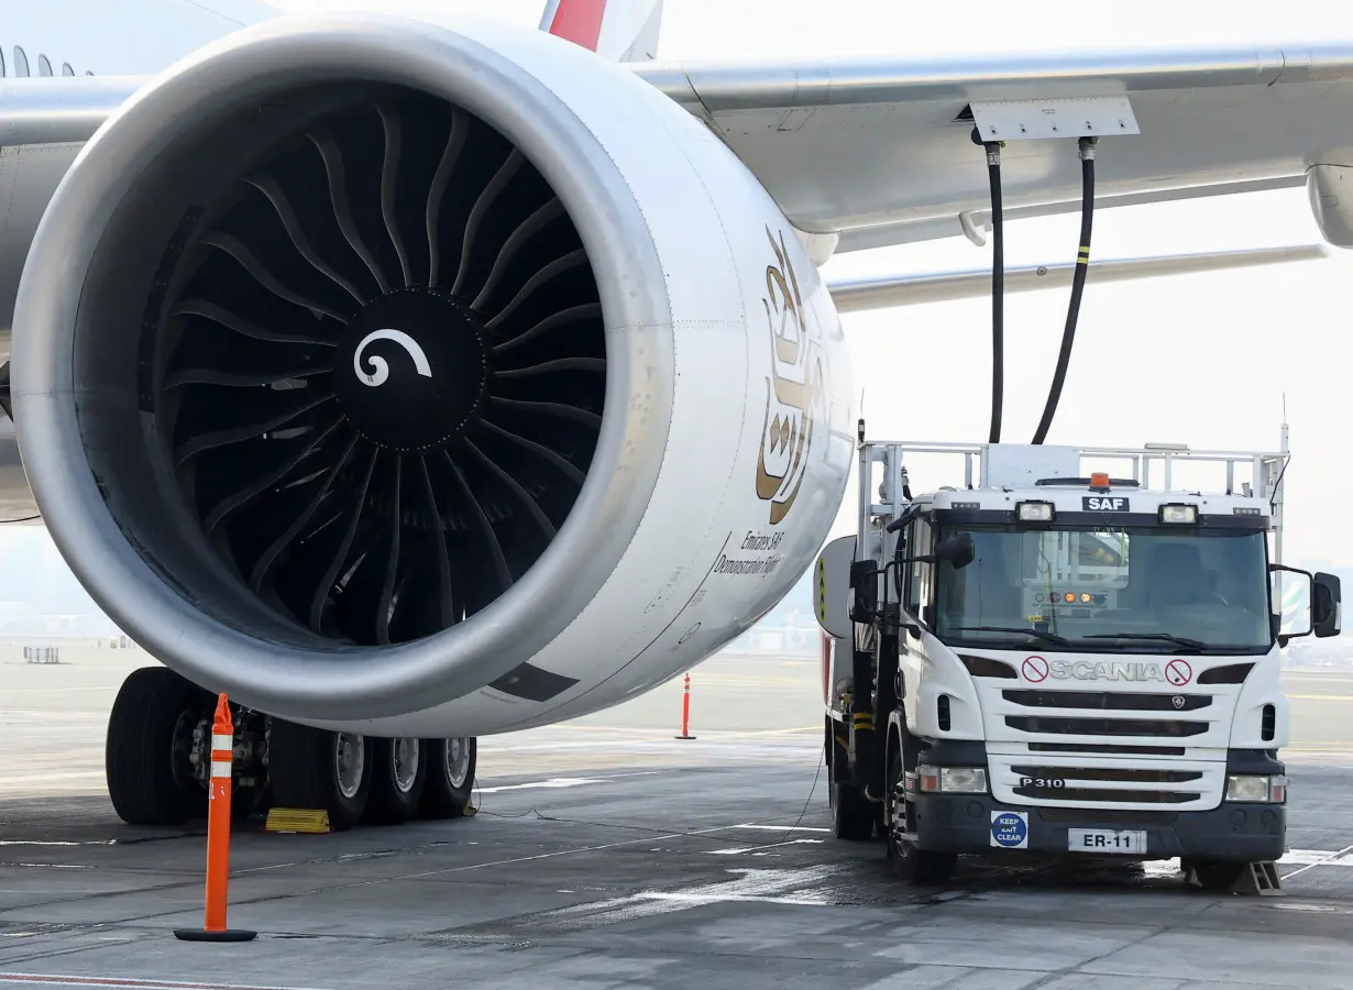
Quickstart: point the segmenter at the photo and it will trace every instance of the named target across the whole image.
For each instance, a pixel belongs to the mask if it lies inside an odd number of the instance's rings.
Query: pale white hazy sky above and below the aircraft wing
[[[396,0],[387,0],[394,9]],[[292,11],[350,0],[284,0]],[[541,0],[410,4],[492,12],[534,26]],[[659,58],[934,55],[1065,47],[1353,42],[1353,3],[1230,0],[667,0]],[[1080,218],[1007,226],[1007,264],[1072,261]],[[1304,191],[1229,196],[1103,211],[1093,257],[1315,243]],[[990,249],[963,238],[838,256],[828,277],[894,270],[986,268]],[[1339,289],[1339,285],[1345,285]],[[1289,560],[1353,561],[1353,530],[1338,506],[1353,487],[1346,329],[1353,256],[1130,285],[1086,285],[1076,349],[1049,442],[1277,449],[1287,394],[1293,461],[1287,475]],[[1003,438],[1027,441],[1042,412],[1068,292],[1005,304]],[[990,303],[985,299],[843,316],[874,438],[981,441],[990,388]],[[905,396],[905,398],[904,398]],[[913,488],[962,481],[913,472]],[[930,467],[927,472],[924,468]],[[854,530],[854,486],[838,533]]]

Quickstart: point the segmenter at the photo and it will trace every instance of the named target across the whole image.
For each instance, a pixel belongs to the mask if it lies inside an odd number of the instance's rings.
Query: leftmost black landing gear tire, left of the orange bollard
[[[207,791],[192,776],[192,730],[207,695],[165,667],[142,667],[122,682],[108,717],[104,772],[112,809],[129,825],[181,825],[207,814]]]

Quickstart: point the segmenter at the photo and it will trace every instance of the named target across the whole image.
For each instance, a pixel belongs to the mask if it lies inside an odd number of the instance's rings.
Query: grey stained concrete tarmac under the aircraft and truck
[[[66,656],[66,651],[62,651]],[[587,720],[480,741],[478,814],[233,840],[230,924],[202,924],[202,829],[129,828],[103,724],[145,656],[0,653],[0,986],[1222,990],[1353,986],[1353,669],[1293,672],[1283,894],[1177,863],[963,863],[889,876],[831,839],[812,660],[720,657]],[[756,705],[751,702],[755,701]],[[660,728],[655,728],[660,726]],[[718,726],[710,729],[709,726]]]

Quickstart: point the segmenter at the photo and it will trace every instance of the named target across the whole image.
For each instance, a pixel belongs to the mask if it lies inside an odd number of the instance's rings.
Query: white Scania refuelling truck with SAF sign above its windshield
[[[912,498],[912,453],[962,456],[963,484]],[[916,882],[959,853],[1055,853],[1180,857],[1220,889],[1279,859],[1281,649],[1339,630],[1338,579],[1280,563],[1287,460],[1285,440],[865,444],[862,426],[859,532],[819,560],[836,834],[877,830]],[[1224,483],[1176,486],[1180,461]],[[1293,583],[1308,605],[1284,617]]]

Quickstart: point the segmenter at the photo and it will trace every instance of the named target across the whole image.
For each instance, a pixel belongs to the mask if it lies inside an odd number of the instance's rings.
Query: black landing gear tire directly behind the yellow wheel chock
[[[361,821],[372,779],[372,740],[272,720],[268,776],[273,807],[329,813],[329,828],[344,832]]]

